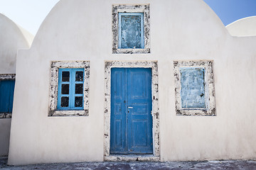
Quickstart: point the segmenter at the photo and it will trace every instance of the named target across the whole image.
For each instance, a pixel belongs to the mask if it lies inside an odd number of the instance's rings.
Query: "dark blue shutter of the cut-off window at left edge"
[[[14,80],[0,81],[0,113],[12,113],[14,86]]]

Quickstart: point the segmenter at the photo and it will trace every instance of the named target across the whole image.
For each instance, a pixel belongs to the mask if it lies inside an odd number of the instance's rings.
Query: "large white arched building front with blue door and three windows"
[[[18,52],[9,164],[255,159],[255,42],[201,0],[62,0]]]

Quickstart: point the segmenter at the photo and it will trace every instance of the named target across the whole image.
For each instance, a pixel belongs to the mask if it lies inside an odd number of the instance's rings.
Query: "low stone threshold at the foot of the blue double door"
[[[104,157],[104,161],[108,162],[159,162],[160,157],[153,154],[110,154]]]

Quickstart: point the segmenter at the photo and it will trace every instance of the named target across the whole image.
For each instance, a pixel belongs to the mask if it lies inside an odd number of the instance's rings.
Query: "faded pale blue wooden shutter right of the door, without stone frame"
[[[205,69],[181,67],[181,107],[206,108]]]

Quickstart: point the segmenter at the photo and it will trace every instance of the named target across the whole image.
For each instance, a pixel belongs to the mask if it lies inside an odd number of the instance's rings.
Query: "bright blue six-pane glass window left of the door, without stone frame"
[[[85,69],[58,70],[58,110],[82,110]]]

